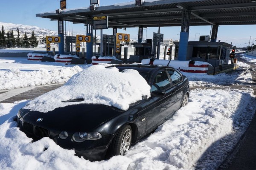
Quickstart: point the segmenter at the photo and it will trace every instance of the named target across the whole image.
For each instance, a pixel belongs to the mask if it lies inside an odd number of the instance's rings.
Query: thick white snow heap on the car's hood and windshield
[[[127,110],[129,104],[150,96],[150,86],[136,70],[119,72],[115,67],[93,65],[70,78],[65,85],[29,102],[25,109],[48,112],[80,103],[93,103]],[[64,102],[84,99],[81,102]]]

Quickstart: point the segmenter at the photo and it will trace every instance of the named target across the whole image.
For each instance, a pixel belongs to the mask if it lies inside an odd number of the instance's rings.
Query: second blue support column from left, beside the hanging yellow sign
[[[86,35],[91,36],[91,42],[86,42],[86,59],[91,61],[93,57],[93,18],[91,17],[87,18]]]

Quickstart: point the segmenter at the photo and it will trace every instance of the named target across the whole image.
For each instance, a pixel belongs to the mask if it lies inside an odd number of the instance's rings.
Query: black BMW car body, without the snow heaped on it
[[[48,113],[22,108],[17,114],[20,130],[34,140],[49,137],[90,161],[124,155],[131,143],[152,132],[187,104],[189,82],[175,68],[157,65],[113,65],[119,72],[133,69],[150,85],[151,96],[131,103],[128,110],[92,103],[55,108]],[[61,94],[59,94],[61,95]],[[85,113],[86,112],[86,113]]]

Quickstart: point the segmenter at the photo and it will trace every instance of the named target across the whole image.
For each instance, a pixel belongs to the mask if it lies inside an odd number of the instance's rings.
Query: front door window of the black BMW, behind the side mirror
[[[170,79],[166,71],[160,71],[155,77],[154,82],[151,86],[151,92],[157,90],[164,90],[168,87],[171,87]]]

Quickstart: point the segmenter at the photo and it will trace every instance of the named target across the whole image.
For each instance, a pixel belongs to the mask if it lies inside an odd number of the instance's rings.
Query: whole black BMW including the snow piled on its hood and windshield
[[[93,65],[17,114],[34,140],[53,139],[91,161],[124,155],[189,98],[187,77],[156,65]]]

